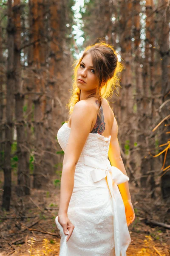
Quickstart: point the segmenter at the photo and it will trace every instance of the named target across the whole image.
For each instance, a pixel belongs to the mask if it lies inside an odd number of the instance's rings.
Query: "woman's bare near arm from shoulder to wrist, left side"
[[[91,131],[95,108],[90,102],[81,100],[74,106],[71,115],[71,131],[65,149],[58,215],[67,215],[68,205],[74,188],[74,172],[83,146]]]

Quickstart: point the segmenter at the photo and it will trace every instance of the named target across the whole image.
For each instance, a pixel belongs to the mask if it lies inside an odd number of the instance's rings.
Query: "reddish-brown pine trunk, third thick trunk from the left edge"
[[[30,1],[31,12],[33,15],[33,31],[34,31],[34,53],[33,53],[33,67],[34,67],[34,88],[35,95],[33,96],[34,102],[34,135],[35,135],[35,156],[34,156],[34,188],[40,189],[46,185],[48,181],[48,172],[43,169],[44,162],[44,102],[42,96],[45,93],[44,81],[41,71],[41,57],[42,47],[42,27],[43,27],[43,0]]]

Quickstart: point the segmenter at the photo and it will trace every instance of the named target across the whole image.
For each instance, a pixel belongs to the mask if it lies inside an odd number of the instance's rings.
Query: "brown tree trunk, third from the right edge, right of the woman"
[[[140,1],[133,2],[133,20],[132,20],[132,38],[134,41],[132,43],[132,56],[133,60],[131,63],[132,73],[133,73],[133,94],[130,97],[133,102],[132,111],[133,114],[130,116],[130,122],[132,124],[132,132],[130,133],[130,178],[135,179],[135,185],[137,187],[140,186],[139,177],[141,176],[141,153],[138,148],[138,122],[139,122],[139,113],[141,113],[141,92],[142,92],[142,68],[140,67],[141,56],[140,56],[140,16],[139,13],[141,11]]]

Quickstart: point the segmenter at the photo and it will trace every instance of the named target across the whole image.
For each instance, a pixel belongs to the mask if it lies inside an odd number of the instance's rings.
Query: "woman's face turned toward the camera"
[[[79,81],[82,79],[85,83]],[[88,53],[80,62],[80,66],[77,70],[77,87],[80,90],[93,91],[98,86],[96,74],[94,73],[91,54]]]

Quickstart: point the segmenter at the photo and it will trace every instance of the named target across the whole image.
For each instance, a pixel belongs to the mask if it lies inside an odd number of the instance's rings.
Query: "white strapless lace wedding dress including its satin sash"
[[[63,151],[70,131],[65,122],[57,133]],[[109,138],[98,133],[88,135],[76,165],[68,206],[68,218],[74,224],[68,242],[68,235],[64,234],[56,217],[61,237],[59,256],[126,256],[131,239],[117,185],[129,178],[111,166],[108,160],[110,140],[111,135]]]

